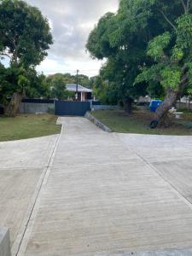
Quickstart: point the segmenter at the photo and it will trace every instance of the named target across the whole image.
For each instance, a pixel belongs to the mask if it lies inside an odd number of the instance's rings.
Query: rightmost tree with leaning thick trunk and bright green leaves
[[[192,82],[192,5],[191,1],[154,1],[150,10],[159,12],[164,32],[148,43],[147,55],[154,60],[150,67],[143,67],[137,82],[159,82],[166,90],[165,101],[155,113],[151,127],[166,119],[168,110]]]

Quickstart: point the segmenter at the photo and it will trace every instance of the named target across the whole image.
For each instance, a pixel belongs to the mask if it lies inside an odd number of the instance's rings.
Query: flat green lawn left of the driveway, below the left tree
[[[0,116],[0,141],[43,137],[60,133],[57,117],[50,114],[20,114],[15,118]]]

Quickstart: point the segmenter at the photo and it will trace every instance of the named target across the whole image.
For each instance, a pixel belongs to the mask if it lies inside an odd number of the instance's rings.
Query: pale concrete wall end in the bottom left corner
[[[0,228],[0,256],[11,256],[9,230]]]

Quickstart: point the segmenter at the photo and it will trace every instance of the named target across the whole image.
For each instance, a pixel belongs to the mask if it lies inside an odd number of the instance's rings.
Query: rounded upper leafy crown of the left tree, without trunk
[[[0,55],[26,68],[36,66],[52,43],[49,22],[39,9],[24,1],[0,1]]]

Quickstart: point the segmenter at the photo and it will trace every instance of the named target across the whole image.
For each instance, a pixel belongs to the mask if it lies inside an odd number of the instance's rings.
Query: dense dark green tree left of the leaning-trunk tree
[[[145,5],[147,9],[148,4]],[[136,1],[120,1],[118,13],[104,15],[90,32],[86,44],[93,58],[108,59],[102,73],[105,72],[106,79],[115,84],[126,113],[131,113],[131,104],[137,96],[147,94],[146,83],[134,86],[134,82],[140,73],[139,67],[150,61],[145,49],[148,39],[160,30],[160,26],[159,23],[154,26],[154,20],[150,21],[152,26],[148,26],[146,20],[147,17],[137,17]],[[146,31],[142,31],[143,27],[147,27]]]

